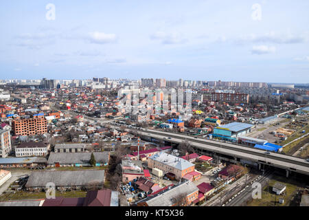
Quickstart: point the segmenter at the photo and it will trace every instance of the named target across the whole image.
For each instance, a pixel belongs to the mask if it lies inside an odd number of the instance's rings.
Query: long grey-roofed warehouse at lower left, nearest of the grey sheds
[[[25,187],[30,191],[39,191],[46,189],[47,184],[53,183],[56,190],[101,189],[104,181],[104,170],[38,171],[30,175]]]

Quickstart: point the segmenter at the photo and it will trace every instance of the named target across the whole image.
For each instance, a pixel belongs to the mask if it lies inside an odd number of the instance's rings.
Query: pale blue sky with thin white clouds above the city
[[[308,0],[1,2],[1,79],[309,83]]]

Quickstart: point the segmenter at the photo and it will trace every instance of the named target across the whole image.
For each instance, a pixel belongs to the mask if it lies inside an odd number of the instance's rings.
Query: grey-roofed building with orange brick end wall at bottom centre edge
[[[138,201],[137,206],[190,206],[196,199],[198,188],[191,181],[186,181]]]

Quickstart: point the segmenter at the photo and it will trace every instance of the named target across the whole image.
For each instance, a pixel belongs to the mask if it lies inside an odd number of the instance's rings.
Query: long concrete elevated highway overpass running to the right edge
[[[200,137],[192,137],[179,133],[170,133],[165,131],[155,131],[152,129],[135,129],[126,128],[128,132],[135,132],[141,136],[152,137],[157,140],[165,140],[175,144],[180,144],[183,141],[190,142],[191,146],[201,151],[210,151],[222,155],[229,155],[235,159],[240,158],[247,161],[255,162],[261,166],[266,164],[268,166],[275,166],[286,170],[286,174],[290,172],[301,173],[309,175],[309,162],[306,159],[283,155],[280,153],[269,153],[266,151],[252,148],[249,146],[240,146],[238,144],[229,144],[226,142],[217,142],[214,140],[205,140]]]

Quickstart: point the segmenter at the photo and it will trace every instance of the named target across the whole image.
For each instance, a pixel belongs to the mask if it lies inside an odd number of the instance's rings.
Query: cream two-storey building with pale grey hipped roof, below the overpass
[[[158,168],[165,174],[173,173],[175,178],[179,180],[187,173],[193,172],[195,165],[181,157],[160,152],[148,157],[148,167]]]

